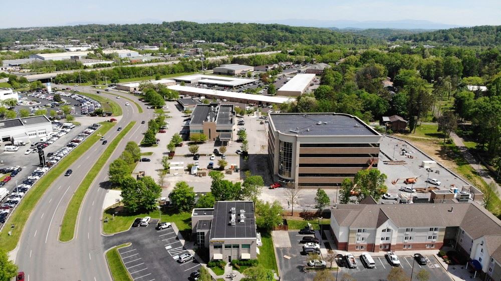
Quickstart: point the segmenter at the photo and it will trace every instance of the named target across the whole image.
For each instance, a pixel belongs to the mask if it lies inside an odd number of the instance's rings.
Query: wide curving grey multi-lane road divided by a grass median
[[[91,87],[79,87],[83,92],[96,93]],[[119,145],[98,173],[82,202],[75,237],[69,242],[59,241],[60,224],[72,194],[91,169],[95,161],[104,152],[107,145],[96,142],[73,165],[71,176],[61,175],[40,199],[28,219],[17,248],[16,263],[26,278],[31,280],[111,280],[103,249],[101,234],[102,206],[107,189],[108,165],[123,151],[127,141],[139,142],[147,129],[147,122],[153,117],[153,110],[146,109],[134,96],[121,92],[114,94],[134,99],[143,107],[139,113],[134,104],[126,106],[127,99],[114,99],[123,110],[118,123],[109,130],[105,137],[109,141],[130,121],[136,124],[120,141]],[[115,95],[102,93],[109,98]],[[103,118],[103,120],[105,120]]]

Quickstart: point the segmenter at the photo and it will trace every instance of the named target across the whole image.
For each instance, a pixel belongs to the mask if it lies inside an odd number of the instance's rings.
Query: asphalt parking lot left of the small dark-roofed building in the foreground
[[[157,219],[152,219],[148,226],[131,227],[128,231],[106,236],[105,248],[131,243],[130,246],[120,248],[119,253],[134,280],[188,280],[200,263],[196,259],[178,262],[179,255],[188,250],[183,247],[182,240],[179,240],[177,228],[174,225],[157,230],[157,222]]]

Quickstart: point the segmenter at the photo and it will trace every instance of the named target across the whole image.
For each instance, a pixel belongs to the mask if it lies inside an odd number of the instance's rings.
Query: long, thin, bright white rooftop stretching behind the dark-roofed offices
[[[196,88],[189,86],[173,85],[168,86],[169,89],[177,90],[181,94],[187,94],[192,96],[205,96],[208,98],[218,98],[227,99],[228,101],[240,102],[240,103],[257,103],[257,104],[281,104],[284,102],[294,101],[290,97],[282,96],[268,96],[259,94],[249,94],[242,92],[232,92],[223,90],[213,90],[205,88]]]

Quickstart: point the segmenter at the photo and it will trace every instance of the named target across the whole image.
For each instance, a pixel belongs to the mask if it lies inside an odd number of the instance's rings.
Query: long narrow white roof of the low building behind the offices
[[[169,89],[178,90],[178,91],[186,91],[193,92],[197,94],[211,94],[218,96],[220,98],[242,98],[249,100],[256,100],[261,102],[273,102],[273,103],[284,103],[288,101],[293,101],[294,99],[291,97],[285,96],[268,96],[268,95],[259,95],[259,94],[249,94],[243,92],[232,92],[232,91],[224,91],[224,90],[213,90],[206,88],[197,88],[197,87],[189,87],[189,86],[181,86],[181,85],[173,85],[167,86]]]

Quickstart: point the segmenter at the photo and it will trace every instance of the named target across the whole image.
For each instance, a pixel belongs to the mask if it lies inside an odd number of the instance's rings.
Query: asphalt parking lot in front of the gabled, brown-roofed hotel
[[[276,232],[276,231],[274,231]],[[308,256],[302,253],[302,246],[300,244],[300,240],[303,236],[313,236],[313,235],[305,235],[299,234],[296,231],[281,231],[279,234],[280,237],[277,239],[277,236],[274,233],[274,246],[277,251],[278,258],[278,266],[280,267],[280,272],[282,278],[284,280],[305,280],[305,279],[313,279],[315,276],[315,272],[305,272],[304,268],[308,262]],[[315,233],[316,237],[320,236],[318,230]],[[289,238],[289,239],[287,239]],[[327,249],[325,248],[325,244],[321,246],[321,257],[325,258],[327,253]],[[357,262],[357,268],[346,268],[340,267],[340,270],[337,272],[338,276],[341,277],[344,273],[349,273],[356,280],[385,280],[390,272],[392,266],[385,259],[384,252],[372,253],[374,261],[376,262],[376,266],[374,268],[365,268],[364,264],[360,260],[361,252],[352,252],[355,256]],[[419,270],[425,269],[430,273],[430,281],[432,280],[448,280],[449,277],[445,270],[442,268],[438,261],[433,255],[425,255],[428,259],[428,263],[426,265],[420,265],[417,262],[414,262],[412,257],[414,252],[409,251],[409,254],[406,256],[399,256],[400,259],[400,267],[406,272],[408,276],[410,276],[412,271],[412,266],[414,266],[413,276]],[[327,262],[327,266],[329,266],[329,262]],[[333,266],[337,266],[335,262],[333,262]],[[336,271],[332,271],[332,274],[335,275]]]

